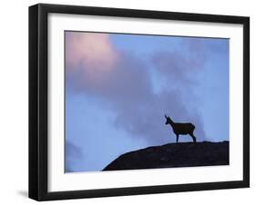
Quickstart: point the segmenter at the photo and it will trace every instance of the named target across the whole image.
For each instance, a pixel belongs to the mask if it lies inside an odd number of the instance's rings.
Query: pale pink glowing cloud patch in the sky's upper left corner
[[[118,53],[110,42],[109,34],[66,33],[67,67],[75,69],[73,72],[80,65],[89,68],[91,73],[109,71],[117,58]]]

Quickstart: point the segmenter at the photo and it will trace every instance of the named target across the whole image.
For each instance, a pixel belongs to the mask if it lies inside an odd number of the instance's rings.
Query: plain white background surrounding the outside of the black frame
[[[125,7],[216,15],[251,16],[251,189],[210,190],[89,200],[51,201],[55,204],[207,204],[255,201],[256,197],[256,13],[254,1],[223,0],[56,0],[51,4]],[[35,204],[27,198],[28,171],[28,5],[38,1],[2,1],[0,32],[0,203]]]

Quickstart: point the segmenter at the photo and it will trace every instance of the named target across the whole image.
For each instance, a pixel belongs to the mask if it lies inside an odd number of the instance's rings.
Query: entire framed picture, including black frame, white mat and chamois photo
[[[38,4],[28,39],[29,198],[250,187],[250,17]]]

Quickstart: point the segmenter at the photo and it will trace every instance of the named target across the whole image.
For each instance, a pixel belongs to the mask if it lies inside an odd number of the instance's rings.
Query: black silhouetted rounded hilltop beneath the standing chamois
[[[122,154],[103,171],[229,164],[229,142],[179,142]]]

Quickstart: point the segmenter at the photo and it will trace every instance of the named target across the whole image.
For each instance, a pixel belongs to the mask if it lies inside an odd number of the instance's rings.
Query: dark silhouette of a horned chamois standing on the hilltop
[[[197,142],[197,138],[194,135],[195,125],[192,123],[177,123],[173,122],[169,116],[165,114],[166,122],[172,127],[173,132],[176,134],[176,143],[179,141],[179,134],[189,134],[193,139],[193,142]]]

